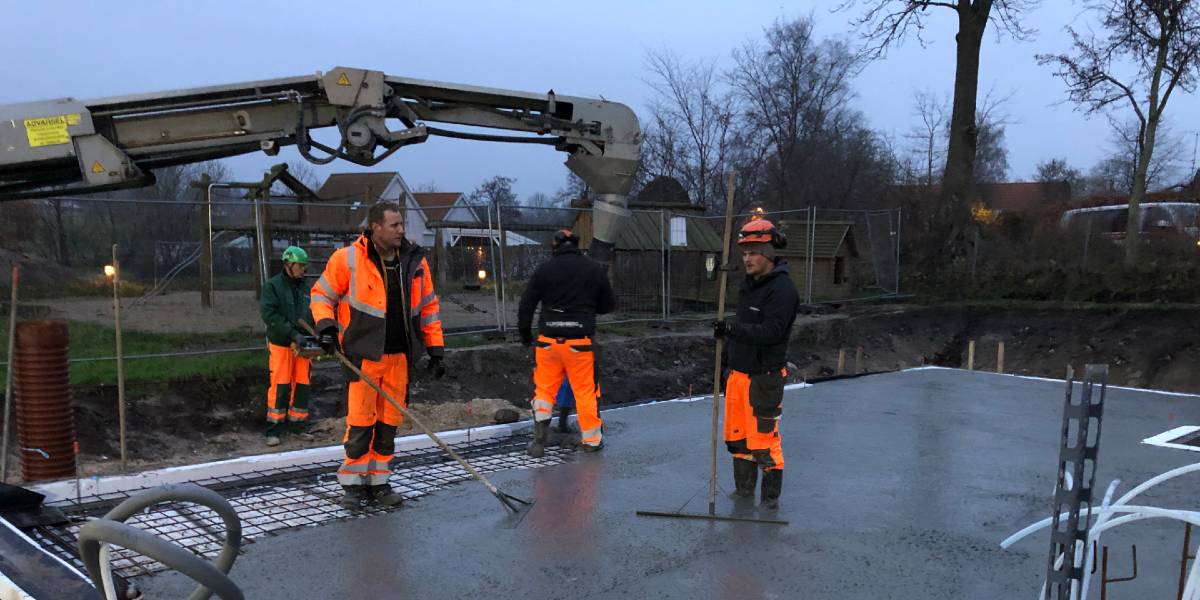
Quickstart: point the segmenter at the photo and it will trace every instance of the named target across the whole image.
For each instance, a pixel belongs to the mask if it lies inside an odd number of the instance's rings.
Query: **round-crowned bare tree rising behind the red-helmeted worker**
[[[848,44],[817,40],[811,17],[776,20],[766,42],[746,42],[733,52],[730,80],[742,102],[746,126],[764,136],[768,180],[778,208],[814,204],[815,191],[797,185],[827,134],[853,97],[850,82],[860,66]]]

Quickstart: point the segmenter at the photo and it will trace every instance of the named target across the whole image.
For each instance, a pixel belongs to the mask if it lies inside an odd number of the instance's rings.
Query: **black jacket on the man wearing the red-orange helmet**
[[[762,277],[746,276],[740,293],[727,341],[730,368],[757,374],[786,367],[787,338],[800,306],[787,262],[779,260]]]

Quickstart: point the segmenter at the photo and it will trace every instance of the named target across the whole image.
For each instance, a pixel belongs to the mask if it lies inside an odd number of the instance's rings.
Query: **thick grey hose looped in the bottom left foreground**
[[[125,524],[125,520],[143,509],[164,502],[187,502],[206,506],[224,522],[226,540],[216,563],[209,563],[174,542],[143,529]],[[107,515],[84,523],[79,528],[79,558],[88,568],[88,575],[97,589],[103,589],[103,565],[100,560],[101,544],[110,544],[132,550],[175,569],[199,586],[188,600],[208,600],[215,592],[223,600],[242,600],[238,586],[226,575],[238,558],[241,546],[241,521],[233,506],[221,494],[194,484],[162,486],[134,496],[116,505]]]

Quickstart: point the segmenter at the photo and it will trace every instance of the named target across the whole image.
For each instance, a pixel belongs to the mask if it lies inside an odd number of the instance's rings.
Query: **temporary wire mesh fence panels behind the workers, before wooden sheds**
[[[218,299],[223,292],[244,292],[239,301],[254,314],[257,302],[245,292],[257,294],[263,281],[281,269],[283,248],[306,248],[312,262],[308,277],[316,280],[328,257],[361,230],[367,209],[364,202],[252,200],[233,190],[211,192],[208,203],[196,197],[80,196],[5,203],[4,209],[24,211],[29,224],[16,232],[16,240],[29,253],[56,263],[54,278],[62,295],[104,293],[101,269],[110,262],[116,242],[126,286],[122,305],[152,306],[156,296],[194,294],[194,310],[200,311],[202,288],[210,280]],[[592,238],[590,209],[402,204],[407,236],[426,248],[449,335],[514,332],[521,296],[536,268],[551,258],[554,233],[572,229],[584,246]],[[788,263],[803,302],[900,294],[899,210],[800,208],[742,214],[734,216],[734,228],[750,218],[769,218],[786,235],[787,246],[779,253]],[[709,276],[709,265],[720,259],[724,228],[724,216],[685,206],[634,208],[608,268],[616,310],[600,323],[712,318],[718,281]],[[209,264],[202,258],[205,241],[211,247]],[[736,246],[730,250],[726,300],[734,306],[740,253]],[[173,310],[180,310],[179,305]]]

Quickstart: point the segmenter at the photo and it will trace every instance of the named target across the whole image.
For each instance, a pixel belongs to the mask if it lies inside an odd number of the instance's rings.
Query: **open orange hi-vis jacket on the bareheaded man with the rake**
[[[342,349],[352,359],[378,361],[383,358],[386,335],[388,289],[379,266],[371,258],[371,240],[360,235],[354,244],[338,248],[325,264],[325,272],[312,287],[312,318],[320,331],[336,324]],[[421,344],[430,355],[440,355],[442,317],[433,277],[424,250],[407,241],[400,248],[408,300],[409,355],[419,356]],[[420,332],[420,335],[415,335]]]

